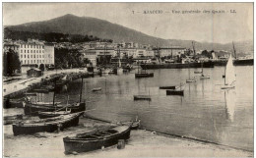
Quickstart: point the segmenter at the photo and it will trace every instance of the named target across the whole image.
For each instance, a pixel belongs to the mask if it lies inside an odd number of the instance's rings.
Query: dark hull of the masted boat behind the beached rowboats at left
[[[63,106],[45,106],[45,105],[34,105],[34,104],[26,104],[24,107],[24,113],[25,115],[32,115],[32,116],[38,116],[38,112],[53,112],[56,110],[61,109],[62,111],[66,110],[65,105]],[[63,109],[62,109],[63,108]],[[80,103],[79,106],[69,106],[67,107],[67,110],[71,110],[71,113],[77,113],[81,111],[86,110],[86,103]]]

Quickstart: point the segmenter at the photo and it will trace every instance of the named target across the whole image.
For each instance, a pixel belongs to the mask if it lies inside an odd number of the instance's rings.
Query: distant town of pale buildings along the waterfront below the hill
[[[31,68],[40,70],[68,69],[88,66],[116,65],[118,59],[126,64],[186,63],[226,60],[230,52],[196,50],[180,46],[156,47],[134,42],[81,43],[45,42],[37,39],[4,40],[4,53],[17,53],[20,66],[15,73],[26,74]],[[66,59],[64,59],[66,57]]]

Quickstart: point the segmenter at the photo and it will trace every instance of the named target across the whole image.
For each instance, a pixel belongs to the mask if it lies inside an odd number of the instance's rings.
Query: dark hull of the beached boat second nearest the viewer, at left
[[[38,124],[14,124],[13,132],[14,135],[19,134],[32,134],[35,132],[55,132],[58,129],[63,130],[69,127],[77,126],[79,123],[79,117],[83,113],[78,113],[72,117],[61,120],[59,122],[47,122],[47,123],[38,123]]]

